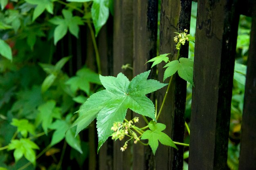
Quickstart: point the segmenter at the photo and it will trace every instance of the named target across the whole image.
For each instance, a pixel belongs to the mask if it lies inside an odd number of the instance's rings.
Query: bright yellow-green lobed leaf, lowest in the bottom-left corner
[[[29,139],[23,138],[20,140],[11,140],[8,148],[8,150],[14,150],[13,156],[16,162],[24,155],[25,158],[35,166],[36,152],[33,149],[39,149],[38,145]]]

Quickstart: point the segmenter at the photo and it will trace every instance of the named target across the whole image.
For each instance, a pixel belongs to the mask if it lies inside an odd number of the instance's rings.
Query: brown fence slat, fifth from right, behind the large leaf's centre
[[[129,79],[132,78],[130,69],[122,70],[121,66],[132,64],[133,55],[133,0],[115,0],[114,1],[114,39],[113,39],[113,74],[117,76],[123,72]],[[126,119],[131,119],[131,112],[127,112]],[[121,152],[124,140],[114,143],[114,169],[130,170],[131,153],[130,147],[125,152]]]

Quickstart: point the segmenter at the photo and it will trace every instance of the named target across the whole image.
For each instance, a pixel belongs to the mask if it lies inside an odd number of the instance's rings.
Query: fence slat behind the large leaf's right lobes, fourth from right
[[[133,76],[136,76],[137,74],[149,70],[150,65],[145,65],[145,63],[150,60],[150,58],[156,56],[158,0],[135,0],[133,7]],[[138,114],[134,116],[139,117],[141,120],[139,123],[136,123],[136,125],[139,127],[146,125],[141,116]],[[151,156],[152,151],[149,146],[145,147],[139,143],[136,145],[134,144],[132,153],[132,169],[149,169],[149,165],[153,164],[153,161],[150,161]]]

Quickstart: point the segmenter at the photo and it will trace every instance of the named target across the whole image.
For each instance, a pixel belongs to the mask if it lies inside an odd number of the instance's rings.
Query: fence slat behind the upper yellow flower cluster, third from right
[[[160,20],[160,45],[159,54],[171,53],[171,60],[176,59],[177,50],[173,37],[189,29],[191,15],[191,0],[162,0]],[[188,56],[188,44],[182,47],[182,57]],[[163,81],[163,64],[159,65],[159,81]],[[166,132],[174,141],[183,142],[184,139],[184,111],[186,103],[186,81],[179,76],[174,76],[172,86],[168,92],[164,109],[159,117],[159,122],[166,125]],[[167,83],[168,81],[166,81]],[[158,110],[166,93],[166,88],[160,89],[157,94]],[[182,169],[184,147],[177,145],[179,150],[159,145],[156,156],[156,169]]]

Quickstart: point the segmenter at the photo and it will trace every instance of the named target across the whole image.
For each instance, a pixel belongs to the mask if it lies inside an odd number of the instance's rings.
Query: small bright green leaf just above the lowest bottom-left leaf
[[[27,133],[36,134],[35,127],[33,124],[29,123],[27,119],[12,119],[11,125],[18,128],[18,132],[21,133],[23,137],[27,137]]]

